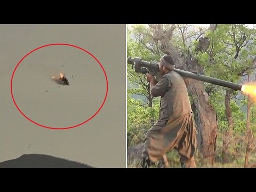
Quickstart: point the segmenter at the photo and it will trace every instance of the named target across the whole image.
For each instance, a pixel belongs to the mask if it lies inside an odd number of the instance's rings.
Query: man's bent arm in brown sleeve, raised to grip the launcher
[[[166,90],[168,89],[168,79],[166,77],[162,77],[159,79],[159,82],[155,81],[155,78],[152,78],[150,81],[150,93],[153,97],[162,96]]]

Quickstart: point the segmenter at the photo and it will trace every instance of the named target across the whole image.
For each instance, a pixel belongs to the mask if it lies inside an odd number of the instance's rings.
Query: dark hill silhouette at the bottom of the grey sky
[[[92,166],[42,154],[25,154],[0,162],[0,168],[93,168]]]

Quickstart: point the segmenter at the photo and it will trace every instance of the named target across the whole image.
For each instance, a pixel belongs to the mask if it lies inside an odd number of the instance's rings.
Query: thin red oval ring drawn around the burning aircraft
[[[21,61],[22,61],[23,59],[25,59],[30,53],[33,53],[34,51],[36,51],[36,50],[38,50],[38,49],[41,49],[41,48],[43,48],[43,47],[52,46],[52,45],[66,45],[66,46],[72,46],[72,47],[76,47],[77,49],[80,49],[80,50],[85,51],[86,53],[90,54],[90,55],[99,63],[100,67],[101,67],[102,70],[103,70],[103,73],[104,73],[104,75],[105,75],[105,78],[106,78],[107,89],[106,89],[105,98],[104,98],[104,100],[103,100],[103,102],[102,102],[100,108],[96,111],[96,113],[95,113],[93,116],[91,116],[91,117],[90,117],[89,119],[87,119],[85,122],[82,122],[82,123],[80,123],[80,124],[77,124],[77,125],[74,125],[74,126],[70,126],[70,127],[54,128],[54,127],[49,127],[49,126],[41,125],[41,124],[39,124],[39,123],[34,122],[34,121],[31,120],[30,118],[28,118],[24,113],[22,113],[22,111],[21,111],[20,108],[18,107],[17,103],[15,102],[15,99],[14,99],[13,93],[12,93],[12,80],[13,80],[13,76],[14,76],[14,74],[15,74],[15,71],[16,71],[17,67],[20,65]],[[105,101],[106,101],[106,99],[107,99],[107,94],[108,94],[108,78],[107,78],[107,74],[106,74],[106,72],[105,72],[103,66],[101,65],[100,61],[99,61],[97,58],[95,58],[94,55],[91,54],[89,51],[86,51],[86,50],[84,50],[84,49],[82,49],[81,47],[78,47],[78,46],[76,46],[76,45],[71,45],[71,44],[66,44],[66,43],[47,44],[47,45],[43,45],[43,46],[37,47],[36,49],[30,51],[29,53],[27,53],[27,54],[19,61],[19,63],[17,64],[17,66],[15,67],[15,69],[14,69],[14,71],[13,71],[13,73],[12,73],[12,78],[11,78],[11,95],[12,95],[12,100],[13,100],[13,102],[14,102],[14,105],[17,107],[17,109],[20,111],[20,113],[21,113],[25,118],[27,118],[30,122],[32,122],[32,123],[34,123],[34,124],[36,124],[36,125],[39,125],[39,126],[41,126],[41,127],[45,127],[45,128],[47,128],[47,129],[60,129],[60,130],[63,130],[63,129],[71,129],[71,128],[75,128],[75,127],[77,127],[77,126],[83,125],[84,123],[90,121],[93,117],[95,117],[95,115],[97,115],[97,114],[99,113],[99,111],[100,111],[101,108],[103,107],[103,105],[104,105],[104,103],[105,103]]]

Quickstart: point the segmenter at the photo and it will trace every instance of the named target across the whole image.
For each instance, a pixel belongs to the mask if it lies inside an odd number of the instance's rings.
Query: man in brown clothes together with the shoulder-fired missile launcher
[[[150,83],[151,95],[153,97],[161,96],[158,122],[151,127],[146,134],[145,150],[142,154],[142,166],[149,167],[150,161],[155,162],[161,157],[163,157],[162,162],[163,160],[166,162],[165,153],[170,149],[177,148],[180,152],[182,167],[195,167],[193,155],[193,151],[195,151],[193,113],[191,113],[191,116],[187,114],[187,117],[185,117],[186,115],[182,115],[184,111],[188,112],[191,109],[190,103],[188,102],[186,85],[182,77],[228,87],[235,91],[242,91],[242,93],[246,91],[246,86],[207,77],[196,72],[191,73],[177,69],[170,55],[165,55],[160,62],[158,62],[159,64],[143,61],[138,57],[129,57],[127,63],[133,65],[136,73],[149,73],[147,75],[147,81]],[[181,92],[182,94],[180,94]],[[181,125],[180,121],[182,118],[185,118],[185,124]],[[187,127],[184,127],[186,125]],[[180,138],[180,134],[182,134],[184,129],[185,132],[187,130],[187,133],[184,133],[182,138]],[[186,153],[182,153],[186,148],[188,149]],[[185,159],[185,161],[182,161],[182,158]]]

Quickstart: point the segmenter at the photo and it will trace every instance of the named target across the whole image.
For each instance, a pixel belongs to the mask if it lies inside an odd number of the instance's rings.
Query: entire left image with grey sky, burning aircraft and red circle
[[[126,167],[126,25],[0,36],[0,167]]]

